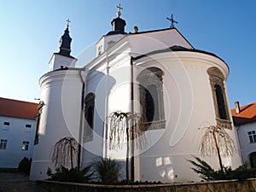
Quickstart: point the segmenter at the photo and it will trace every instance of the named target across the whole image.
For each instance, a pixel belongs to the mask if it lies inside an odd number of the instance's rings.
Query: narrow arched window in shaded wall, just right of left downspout
[[[86,143],[93,140],[95,95],[89,93],[84,102],[84,143]]]

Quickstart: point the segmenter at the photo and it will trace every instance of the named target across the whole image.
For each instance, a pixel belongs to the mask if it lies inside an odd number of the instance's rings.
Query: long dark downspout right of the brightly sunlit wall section
[[[133,84],[133,57],[131,56],[131,182],[134,182],[134,84]]]

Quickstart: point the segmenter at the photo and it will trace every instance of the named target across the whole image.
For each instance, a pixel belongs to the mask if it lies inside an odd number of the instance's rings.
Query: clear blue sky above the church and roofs
[[[111,31],[121,3],[126,32],[176,25],[195,49],[212,52],[230,67],[230,106],[256,102],[256,1],[254,0],[81,0],[0,2],[0,96],[37,102],[38,79],[49,70],[69,18],[74,57]]]

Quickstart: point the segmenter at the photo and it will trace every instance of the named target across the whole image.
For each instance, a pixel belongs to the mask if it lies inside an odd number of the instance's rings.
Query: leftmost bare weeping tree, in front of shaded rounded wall
[[[55,143],[51,160],[55,163],[55,166],[74,168],[77,154],[77,141],[73,137],[64,137]]]

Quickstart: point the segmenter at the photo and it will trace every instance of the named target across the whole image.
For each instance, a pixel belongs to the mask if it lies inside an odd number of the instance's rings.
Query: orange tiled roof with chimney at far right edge
[[[243,125],[256,121],[256,102],[240,107],[240,113],[236,114],[236,109],[232,109],[232,117],[235,125]]]

